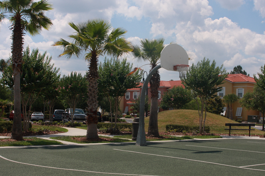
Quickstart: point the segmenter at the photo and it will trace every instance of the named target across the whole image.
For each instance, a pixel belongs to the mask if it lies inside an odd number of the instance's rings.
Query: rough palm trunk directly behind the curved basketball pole
[[[156,65],[152,65],[152,69]],[[152,70],[151,69],[151,70]],[[151,105],[147,136],[159,137],[158,132],[158,87],[160,86],[160,75],[156,71],[150,79]]]

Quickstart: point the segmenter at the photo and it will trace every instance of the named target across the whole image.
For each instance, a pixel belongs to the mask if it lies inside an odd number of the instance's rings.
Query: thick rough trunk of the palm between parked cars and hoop
[[[98,72],[97,72],[97,54],[96,52],[91,53],[92,57],[89,63],[89,71],[87,73],[87,80],[88,80],[88,99],[86,108],[87,112],[87,135],[86,138],[98,138],[97,135],[97,79]]]

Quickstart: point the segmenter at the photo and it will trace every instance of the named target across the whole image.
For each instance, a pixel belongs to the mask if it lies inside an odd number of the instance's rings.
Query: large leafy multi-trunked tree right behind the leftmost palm
[[[22,74],[20,79],[21,103],[24,115],[24,131],[29,128],[29,118],[32,104],[39,97],[40,92],[49,88],[56,82],[59,69],[54,68],[51,64],[52,57],[40,54],[38,49],[33,49],[30,53],[29,47],[23,54]],[[13,87],[12,68],[8,67],[5,71],[3,79],[9,87]],[[27,105],[29,105],[29,113],[27,115]]]

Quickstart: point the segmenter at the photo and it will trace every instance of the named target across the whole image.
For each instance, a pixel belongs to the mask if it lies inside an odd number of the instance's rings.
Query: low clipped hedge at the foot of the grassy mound
[[[200,131],[199,126],[191,126],[191,125],[166,125],[166,131],[174,130],[175,132],[182,133],[183,131],[186,132],[193,132],[193,131]],[[206,133],[210,133],[210,126],[205,126],[204,131]]]

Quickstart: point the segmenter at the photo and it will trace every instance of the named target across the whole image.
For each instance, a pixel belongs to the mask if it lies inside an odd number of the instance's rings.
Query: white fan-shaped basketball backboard
[[[189,57],[187,52],[178,44],[167,45],[161,52],[160,65],[162,68],[170,71],[175,65],[189,65]]]

